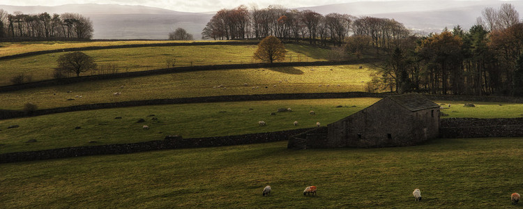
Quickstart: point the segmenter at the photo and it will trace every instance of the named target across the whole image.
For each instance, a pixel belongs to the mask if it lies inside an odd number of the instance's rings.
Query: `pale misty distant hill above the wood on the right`
[[[452,29],[458,24],[468,30],[476,24],[476,18],[480,17],[484,8],[497,9],[502,3],[513,4],[522,17],[523,1],[358,1],[298,9],[314,10],[323,15],[342,13],[356,17],[386,17],[403,23],[409,29],[430,33],[441,32],[445,27]]]

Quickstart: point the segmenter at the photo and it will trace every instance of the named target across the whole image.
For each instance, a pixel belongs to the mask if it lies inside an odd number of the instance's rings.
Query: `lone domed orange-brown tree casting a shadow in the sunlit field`
[[[283,61],[286,53],[285,46],[280,39],[274,36],[267,36],[259,42],[254,58],[273,63],[273,61]]]

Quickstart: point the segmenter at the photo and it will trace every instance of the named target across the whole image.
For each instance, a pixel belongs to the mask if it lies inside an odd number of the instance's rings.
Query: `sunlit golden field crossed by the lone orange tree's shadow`
[[[26,102],[46,109],[100,102],[209,95],[365,91],[365,82],[370,80],[370,72],[372,70],[368,68],[358,69],[358,65],[338,65],[182,72],[111,79],[0,93],[0,98],[4,98],[0,100],[0,109],[22,109]],[[226,89],[214,88],[220,85]],[[120,88],[121,86],[125,87]],[[252,89],[254,86],[259,88]],[[66,93],[67,91],[73,93]],[[116,97],[114,92],[122,94]],[[75,98],[75,95],[82,95],[82,98]],[[75,100],[68,101],[68,98]]]

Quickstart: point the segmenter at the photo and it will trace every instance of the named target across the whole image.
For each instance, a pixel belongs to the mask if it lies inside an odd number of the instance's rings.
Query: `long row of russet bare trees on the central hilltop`
[[[219,10],[206,24],[202,39],[231,40],[275,36],[283,40],[308,40],[312,44],[341,46],[353,32],[372,37],[374,45],[388,38],[409,36],[400,22],[377,17],[354,17],[312,10],[289,10],[282,6],[258,9],[238,6]]]

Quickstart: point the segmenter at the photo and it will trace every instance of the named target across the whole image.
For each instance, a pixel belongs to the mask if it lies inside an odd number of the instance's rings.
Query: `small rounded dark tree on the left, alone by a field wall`
[[[80,72],[86,72],[96,68],[94,59],[91,56],[84,54],[84,52],[63,54],[59,56],[56,62],[58,63],[57,70],[61,72],[74,72],[77,77],[80,76]]]

